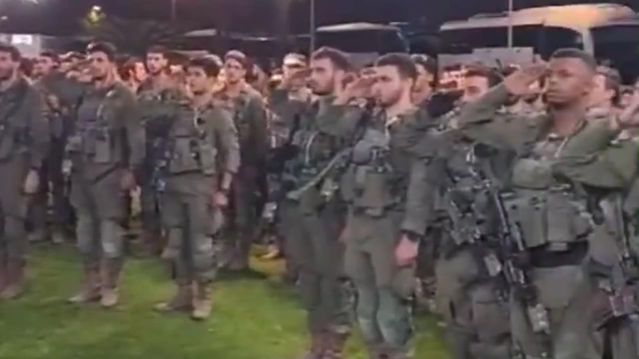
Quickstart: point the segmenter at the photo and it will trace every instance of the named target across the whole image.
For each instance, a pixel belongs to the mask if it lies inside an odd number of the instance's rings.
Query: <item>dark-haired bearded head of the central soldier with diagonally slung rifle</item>
[[[350,71],[351,63],[344,52],[322,47],[311,56],[311,89],[316,95],[330,95],[343,86]]]

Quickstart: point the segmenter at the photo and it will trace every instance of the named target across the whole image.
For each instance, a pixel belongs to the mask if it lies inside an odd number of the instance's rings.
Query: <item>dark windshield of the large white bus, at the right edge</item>
[[[625,83],[635,82],[639,77],[639,24],[594,27],[591,32],[597,60],[619,70]]]

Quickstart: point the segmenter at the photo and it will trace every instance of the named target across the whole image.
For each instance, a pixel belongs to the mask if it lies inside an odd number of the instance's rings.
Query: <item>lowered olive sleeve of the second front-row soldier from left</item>
[[[123,107],[121,119],[127,132],[128,165],[137,168],[144,160],[146,134],[142,125],[142,117],[134,95],[130,91],[123,92]]]

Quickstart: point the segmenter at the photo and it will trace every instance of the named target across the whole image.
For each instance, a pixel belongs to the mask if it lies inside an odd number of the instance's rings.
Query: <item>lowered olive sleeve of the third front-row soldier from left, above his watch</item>
[[[218,150],[223,155],[224,164],[222,168],[229,173],[237,173],[240,167],[240,142],[238,139],[238,131],[235,128],[233,119],[228,112],[215,109],[212,114],[212,128],[216,143],[219,144]]]

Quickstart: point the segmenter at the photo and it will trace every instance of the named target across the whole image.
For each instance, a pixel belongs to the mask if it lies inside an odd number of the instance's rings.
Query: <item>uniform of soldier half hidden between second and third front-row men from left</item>
[[[157,165],[164,156],[171,106],[180,98],[174,89],[153,88],[151,79],[142,83],[137,91],[142,125],[146,132],[146,151],[139,171],[142,207],[142,244],[151,252],[162,247],[160,199],[157,188]]]

